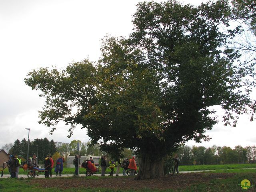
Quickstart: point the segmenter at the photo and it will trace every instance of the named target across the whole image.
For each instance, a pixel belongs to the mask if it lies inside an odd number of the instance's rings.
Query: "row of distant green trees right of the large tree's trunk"
[[[256,163],[256,146],[181,146],[177,152],[182,165]]]

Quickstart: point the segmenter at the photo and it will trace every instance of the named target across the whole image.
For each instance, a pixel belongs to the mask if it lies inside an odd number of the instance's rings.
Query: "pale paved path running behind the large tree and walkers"
[[[242,169],[256,169],[256,168],[242,168]],[[218,170],[225,170],[225,169],[218,169]],[[230,169],[230,170],[232,170],[232,169]],[[217,171],[217,170],[180,171],[180,173],[193,173],[193,172],[204,172],[204,171]],[[108,176],[108,174],[105,174],[105,175]],[[59,175],[56,176],[55,174],[52,175],[52,177],[72,177],[72,176],[73,176],[73,174],[64,174],[62,176],[59,176]],[[80,174],[80,176],[85,177],[85,174]],[[101,174],[94,174],[94,176],[101,176]],[[116,176],[116,175],[114,174],[114,176]],[[123,174],[119,174],[119,176],[123,176]],[[9,178],[9,177],[10,177],[10,175],[8,174],[8,175],[3,175],[3,177],[0,177],[0,178]],[[19,175],[19,178],[21,178],[21,177],[28,178],[27,175],[23,175],[23,174]],[[36,178],[44,178],[44,174],[40,174],[40,175],[36,176]]]

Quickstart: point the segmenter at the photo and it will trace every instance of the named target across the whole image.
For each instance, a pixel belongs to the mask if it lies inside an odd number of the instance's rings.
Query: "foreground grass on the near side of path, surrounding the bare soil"
[[[109,177],[106,178],[100,178],[100,177],[86,177],[82,178],[84,179],[84,182],[90,182],[92,180],[97,180],[97,182],[109,182]],[[62,180],[64,178],[52,178],[52,182],[58,183],[58,181]],[[74,182],[76,181],[76,178],[70,177],[70,179],[74,179]],[[128,190],[122,190],[122,187],[116,188],[116,189],[110,189],[107,186],[105,188],[85,188],[83,186],[78,186],[77,188],[67,188],[67,189],[61,189],[61,186],[58,188],[52,188],[52,187],[42,187],[40,184],[35,184],[33,182],[33,179],[0,179],[0,189],[1,192],[28,192],[28,191],[38,191],[38,192],[205,192],[205,191],[211,191],[211,192],[240,192],[240,182],[244,179],[248,179],[252,182],[251,185],[255,185],[256,181],[256,173],[238,173],[234,174],[234,176],[230,178],[218,178],[218,179],[212,179],[209,182],[200,182],[197,184],[192,184],[189,187],[186,188],[170,188],[165,190],[160,189],[149,189],[149,188],[143,188],[143,189],[128,189]],[[44,180],[49,179],[36,179],[40,180],[40,182],[44,182]],[[178,181],[177,181],[178,182]],[[146,187],[146,186],[145,186]],[[248,192],[255,191],[255,186],[252,186],[252,188],[248,189]]]

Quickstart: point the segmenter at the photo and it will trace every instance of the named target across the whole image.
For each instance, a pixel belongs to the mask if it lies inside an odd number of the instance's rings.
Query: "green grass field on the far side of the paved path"
[[[242,168],[256,168],[256,164],[226,164],[226,165],[189,165],[189,166],[179,166],[180,171],[197,171],[197,170],[230,170],[230,169],[242,169]],[[120,173],[122,173],[122,168],[120,169]],[[52,174],[55,174],[54,169],[52,170]],[[80,168],[80,174],[85,174],[85,169]],[[106,174],[110,173],[110,169],[106,170]],[[234,170],[235,171],[235,170]],[[255,172],[256,170],[254,170]],[[62,174],[74,174],[75,168],[64,168]],[[241,170],[240,172],[245,172]],[[253,172],[253,171],[252,171]],[[116,168],[114,168],[114,173],[116,173]],[[8,170],[4,170],[4,174],[9,174]],[[26,174],[24,173],[23,169],[20,169],[19,174]],[[43,173],[41,173],[43,174]]]

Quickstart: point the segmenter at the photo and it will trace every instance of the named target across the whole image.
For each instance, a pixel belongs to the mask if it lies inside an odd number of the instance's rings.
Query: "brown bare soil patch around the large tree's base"
[[[134,177],[109,177],[99,179],[85,178],[58,178],[58,179],[34,179],[32,183],[37,183],[42,187],[56,188],[111,188],[111,189],[177,189],[186,188],[192,184],[200,182],[207,183],[212,179],[226,179],[233,177],[235,173],[188,173],[168,175],[159,179],[134,180]]]

